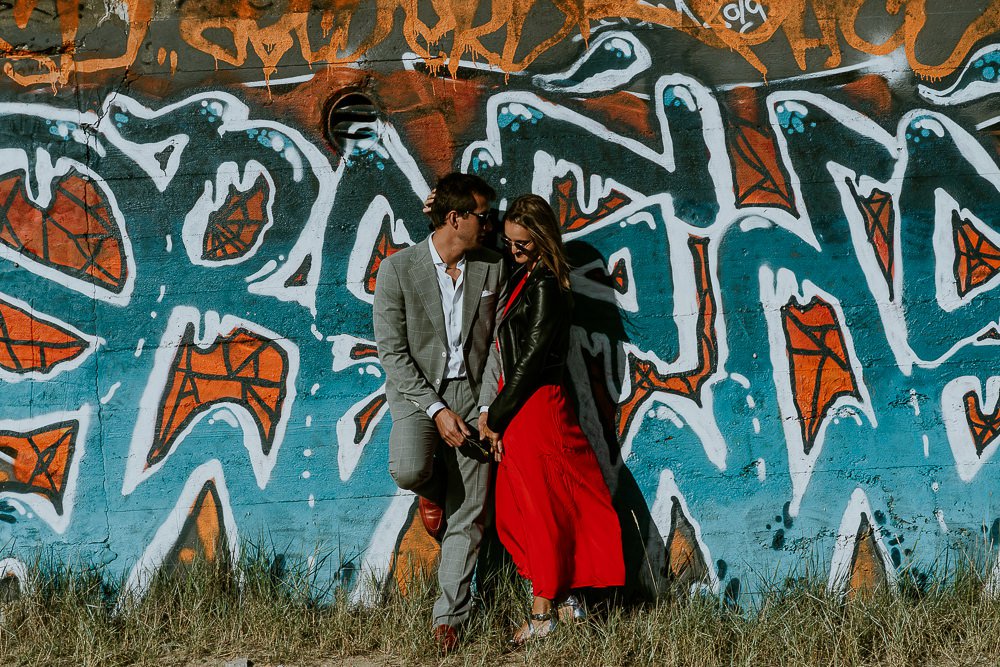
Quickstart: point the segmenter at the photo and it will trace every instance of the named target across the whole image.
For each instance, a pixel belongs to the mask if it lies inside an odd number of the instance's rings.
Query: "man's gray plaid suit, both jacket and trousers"
[[[444,508],[434,625],[459,626],[471,606],[470,582],[486,518],[489,461],[470,447],[449,447],[427,409],[442,401],[475,432],[483,372],[493,329],[506,297],[502,257],[486,249],[465,255],[462,344],[465,380],[446,381],[447,342],[434,264],[427,241],[387,257],[375,285],[375,340],[392,415],[389,472],[409,489]],[[487,403],[488,404],[488,403]]]

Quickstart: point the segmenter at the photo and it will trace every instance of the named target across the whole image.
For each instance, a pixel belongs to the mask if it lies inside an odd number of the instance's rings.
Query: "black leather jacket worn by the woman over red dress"
[[[520,278],[515,273],[510,284]],[[502,433],[536,389],[562,383],[572,314],[570,292],[547,268],[535,268],[497,325],[504,384],[489,406],[491,429]]]

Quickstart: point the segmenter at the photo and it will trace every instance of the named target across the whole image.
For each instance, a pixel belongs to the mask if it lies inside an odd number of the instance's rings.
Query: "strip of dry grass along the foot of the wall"
[[[249,550],[251,553],[253,550]],[[245,550],[244,553],[247,553]],[[789,580],[756,608],[733,611],[712,596],[599,603],[591,619],[513,650],[526,594],[501,578],[479,606],[458,652],[438,658],[430,638],[433,581],[363,609],[339,592],[322,602],[300,573],[276,574],[257,552],[226,567],[196,562],[161,572],[147,595],[119,597],[100,570],[38,565],[32,585],[3,603],[3,665],[992,665],[1000,663],[1000,602],[971,567],[947,582],[844,600],[825,582]],[[935,583],[937,581],[937,583]]]

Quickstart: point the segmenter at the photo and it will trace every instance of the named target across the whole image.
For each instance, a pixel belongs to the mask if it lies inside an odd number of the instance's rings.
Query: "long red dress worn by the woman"
[[[524,283],[512,291],[508,310]],[[502,439],[497,533],[534,594],[558,602],[575,588],[623,585],[618,516],[563,386],[536,389]]]

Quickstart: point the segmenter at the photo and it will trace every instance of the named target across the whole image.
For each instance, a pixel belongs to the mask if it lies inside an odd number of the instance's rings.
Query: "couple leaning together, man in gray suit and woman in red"
[[[383,260],[375,287],[389,470],[420,496],[432,533],[443,512],[433,611],[443,652],[471,611],[491,458],[497,533],[535,596],[515,643],[553,630],[557,607],[575,604],[573,589],[625,578],[610,494],[562,384],[572,297],[558,223],[541,197],[511,204],[502,238],[517,270],[508,285],[501,255],[481,247],[495,198],[476,176],[442,178],[430,237]]]

